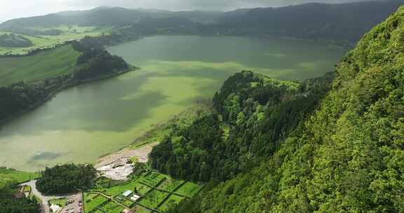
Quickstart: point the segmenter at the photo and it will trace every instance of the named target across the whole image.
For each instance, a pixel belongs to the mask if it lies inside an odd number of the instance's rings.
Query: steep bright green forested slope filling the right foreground
[[[404,212],[403,71],[400,8],[343,58],[321,106],[278,144],[272,156],[217,186],[210,181],[198,198],[172,212]],[[238,83],[233,85],[240,89]],[[231,96],[223,89],[221,93]],[[227,106],[219,106],[224,120]],[[233,128],[243,126],[236,123]],[[247,132],[253,128],[245,127]],[[242,132],[231,134],[229,138],[237,139],[226,146],[239,146],[235,142],[243,141]],[[265,146],[257,149],[268,153]],[[254,156],[253,150],[247,153]],[[216,154],[210,150],[210,156]]]

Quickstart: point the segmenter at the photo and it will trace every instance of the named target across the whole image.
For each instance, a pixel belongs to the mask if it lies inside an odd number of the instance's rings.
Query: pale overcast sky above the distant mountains
[[[358,0],[0,0],[0,22],[58,11],[85,10],[97,6],[155,8],[171,11],[229,11],[236,8],[287,6],[313,1],[342,3]]]

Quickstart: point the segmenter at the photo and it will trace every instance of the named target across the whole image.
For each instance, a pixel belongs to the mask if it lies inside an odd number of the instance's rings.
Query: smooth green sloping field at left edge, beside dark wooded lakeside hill
[[[71,45],[24,57],[0,58],[0,85],[70,74],[80,53]]]

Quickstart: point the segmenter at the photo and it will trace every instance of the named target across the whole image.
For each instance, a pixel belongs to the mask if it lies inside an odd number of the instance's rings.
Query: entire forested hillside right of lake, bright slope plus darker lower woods
[[[215,95],[217,115],[152,152],[163,172],[210,180],[171,212],[403,212],[403,53],[400,8],[342,59],[322,99],[327,81],[311,81],[324,87],[316,90],[310,83],[268,86],[269,78],[249,72],[229,78]],[[204,155],[199,167],[184,163]],[[230,174],[241,173],[221,176],[227,160],[242,168]]]

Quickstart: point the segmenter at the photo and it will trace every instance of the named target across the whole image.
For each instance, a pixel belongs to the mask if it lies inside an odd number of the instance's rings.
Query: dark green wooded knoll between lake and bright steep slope
[[[155,146],[152,167],[191,181],[224,181],[250,170],[316,109],[331,81],[332,74],[304,83],[235,74],[213,99],[217,112]]]

